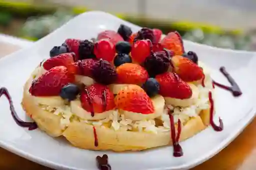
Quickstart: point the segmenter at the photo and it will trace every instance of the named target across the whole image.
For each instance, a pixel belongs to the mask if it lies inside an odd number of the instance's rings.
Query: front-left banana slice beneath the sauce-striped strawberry
[[[71,112],[84,120],[102,120],[108,117],[109,114],[114,112],[114,110],[105,111],[102,113],[94,113],[94,116],[91,116],[90,112],[84,110],[81,106],[81,102],[79,100],[74,100],[70,102]]]

